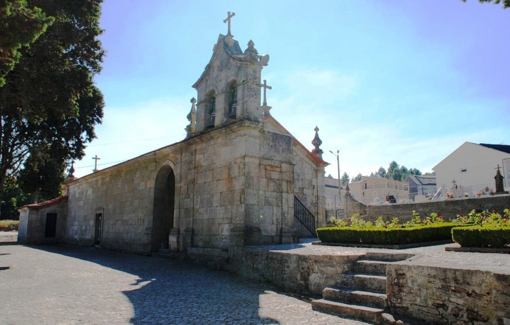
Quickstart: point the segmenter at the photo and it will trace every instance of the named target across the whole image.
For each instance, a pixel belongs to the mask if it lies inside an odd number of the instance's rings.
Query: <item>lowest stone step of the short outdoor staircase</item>
[[[312,301],[312,309],[332,315],[351,317],[372,323],[381,323],[383,321],[382,313],[385,312],[384,309],[380,308],[350,305],[326,299],[317,299]]]

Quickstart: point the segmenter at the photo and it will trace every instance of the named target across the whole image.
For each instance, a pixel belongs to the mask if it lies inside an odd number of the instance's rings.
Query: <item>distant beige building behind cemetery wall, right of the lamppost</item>
[[[370,176],[362,176],[361,181],[349,183],[349,189],[352,197],[365,204],[387,201],[390,195],[397,198],[409,194],[406,182]]]

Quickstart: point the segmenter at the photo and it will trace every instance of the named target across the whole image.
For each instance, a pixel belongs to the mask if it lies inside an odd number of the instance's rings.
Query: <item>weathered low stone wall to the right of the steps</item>
[[[438,324],[510,324],[510,270],[389,264],[390,308]]]

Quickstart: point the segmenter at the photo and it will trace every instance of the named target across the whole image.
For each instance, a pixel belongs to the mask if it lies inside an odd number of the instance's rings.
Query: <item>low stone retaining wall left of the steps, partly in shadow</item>
[[[322,295],[336,287],[338,276],[348,272],[363,255],[315,256],[257,251],[235,247],[223,268],[243,278],[269,282],[295,293]]]

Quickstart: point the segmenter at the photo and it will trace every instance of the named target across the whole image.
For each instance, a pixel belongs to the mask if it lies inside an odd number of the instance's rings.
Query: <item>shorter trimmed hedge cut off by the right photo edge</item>
[[[510,227],[472,226],[451,230],[453,241],[463,247],[501,248],[510,245]]]

